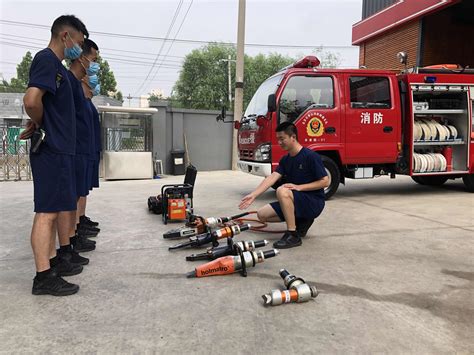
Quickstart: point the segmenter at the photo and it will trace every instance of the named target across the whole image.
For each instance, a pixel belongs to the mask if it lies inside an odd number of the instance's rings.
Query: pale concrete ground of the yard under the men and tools
[[[0,183],[0,352],[473,353],[474,199],[460,180],[441,188],[408,177],[349,180],[303,246],[249,271],[187,279],[195,250],[169,252],[177,227],[148,213],[164,183],[102,182],[88,214],[100,221],[90,265],[67,278],[70,297],[32,296],[32,183]],[[195,207],[237,212],[260,178],[200,172]],[[254,207],[274,199],[268,191]],[[275,225],[272,228],[279,229]],[[244,232],[238,239],[278,239]],[[315,284],[310,302],[265,308],[280,268]]]

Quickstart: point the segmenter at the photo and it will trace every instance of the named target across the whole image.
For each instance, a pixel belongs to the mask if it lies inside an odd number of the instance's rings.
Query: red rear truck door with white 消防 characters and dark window
[[[401,129],[395,77],[377,74],[346,74],[345,77],[345,163],[395,163]]]

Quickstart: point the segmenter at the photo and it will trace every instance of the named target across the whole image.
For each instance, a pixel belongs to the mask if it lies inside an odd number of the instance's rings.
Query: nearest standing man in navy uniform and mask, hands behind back
[[[61,61],[78,58],[88,35],[84,23],[75,16],[58,17],[51,27],[48,47],[39,51],[31,63],[23,99],[31,120],[20,139],[31,138],[34,147],[30,154],[36,213],[31,231],[36,264],[34,295],[66,296],[79,290],[78,285],[61,278],[82,271],[81,265],[70,262],[80,257],[70,245],[70,220],[76,211],[76,125],[71,82]],[[35,138],[40,129],[44,132],[41,144]],[[56,224],[60,245],[57,255]]]

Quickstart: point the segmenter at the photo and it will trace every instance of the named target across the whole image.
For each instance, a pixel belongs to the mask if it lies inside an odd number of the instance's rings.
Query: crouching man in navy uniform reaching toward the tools
[[[292,248],[302,244],[301,238],[324,209],[324,188],[329,178],[321,157],[298,142],[293,123],[283,122],[276,129],[278,144],[288,152],[277,169],[240,202],[248,208],[263,192],[285,176],[287,183],[277,189],[278,201],[265,205],[257,215],[262,222],[286,222],[287,231],[275,242],[275,248]]]

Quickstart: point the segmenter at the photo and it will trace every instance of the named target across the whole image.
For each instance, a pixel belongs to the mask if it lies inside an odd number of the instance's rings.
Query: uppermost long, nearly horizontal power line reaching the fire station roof
[[[19,22],[19,21],[9,21],[9,20],[0,20],[0,23],[5,25],[11,26],[23,26],[23,27],[34,27],[34,28],[42,28],[42,29],[50,29],[50,26],[46,25],[39,25],[34,23],[28,22]],[[169,38],[164,37],[153,37],[153,36],[140,36],[140,35],[129,35],[129,34],[122,34],[122,33],[111,33],[111,32],[102,32],[102,31],[89,31],[91,34],[95,34],[98,36],[106,36],[106,37],[117,37],[117,38],[127,38],[127,39],[139,39],[139,40],[148,40],[148,41],[172,41]],[[219,41],[203,41],[203,40],[192,40],[192,39],[175,39],[177,43],[189,43],[189,44],[211,44],[211,43],[219,43],[222,45],[227,46],[235,46],[236,43],[234,42],[219,42]],[[306,49],[315,49],[315,48],[322,48],[322,49],[358,49],[357,46],[333,46],[333,45],[297,45],[297,44],[266,44],[266,43],[246,43],[246,47],[262,47],[262,48],[306,48]]]

